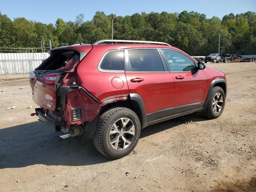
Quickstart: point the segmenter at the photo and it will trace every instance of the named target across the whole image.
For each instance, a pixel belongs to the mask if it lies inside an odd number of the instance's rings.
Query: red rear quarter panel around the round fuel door
[[[98,70],[100,59],[105,52],[110,50],[109,45],[96,45],[93,47],[90,53],[77,66],[76,72],[81,86],[86,88],[100,101],[110,96],[128,95],[128,84],[124,72],[101,72]],[[120,49],[122,46],[116,46],[116,48]],[[111,82],[114,77],[120,78],[124,85],[114,88]]]

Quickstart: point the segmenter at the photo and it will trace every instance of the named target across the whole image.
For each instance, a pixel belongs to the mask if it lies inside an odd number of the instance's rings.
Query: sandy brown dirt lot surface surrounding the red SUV
[[[119,160],[31,117],[37,106],[27,80],[0,82],[0,192],[255,192],[256,63],[208,66],[227,76],[220,118],[196,113],[145,128]]]

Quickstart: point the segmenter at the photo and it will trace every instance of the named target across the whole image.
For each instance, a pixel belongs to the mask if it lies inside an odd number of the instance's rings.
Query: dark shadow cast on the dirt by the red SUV
[[[207,120],[191,114],[141,131],[141,138],[173,128],[186,121]],[[32,122],[0,129],[0,169],[20,168],[34,164],[84,166],[110,161],[94,147],[92,140],[63,140],[42,122]]]

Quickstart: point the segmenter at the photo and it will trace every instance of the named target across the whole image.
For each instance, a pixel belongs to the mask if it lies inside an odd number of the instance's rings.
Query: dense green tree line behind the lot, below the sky
[[[51,40],[52,47],[92,43],[111,38],[111,16],[96,12],[92,20],[84,21],[84,15],[75,21],[58,18],[55,24],[44,24],[24,17],[11,20],[0,14],[0,47],[38,47],[41,41]],[[149,40],[167,42],[190,55],[208,55],[220,52],[256,54],[256,14],[230,13],[222,20],[216,16],[207,19],[205,14],[183,11],[135,13],[114,18],[114,39]]]

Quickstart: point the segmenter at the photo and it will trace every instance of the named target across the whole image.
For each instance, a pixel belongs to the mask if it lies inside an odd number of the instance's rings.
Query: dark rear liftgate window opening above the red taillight
[[[36,70],[57,70],[72,68],[79,61],[80,53],[76,51],[56,51],[51,54]]]

